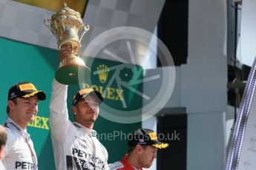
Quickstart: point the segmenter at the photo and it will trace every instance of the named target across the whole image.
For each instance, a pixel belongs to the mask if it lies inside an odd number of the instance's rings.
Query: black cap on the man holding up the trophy
[[[99,91],[93,90],[93,89],[81,89],[78,92],[76,92],[76,95],[73,96],[73,102],[72,105],[76,106],[76,103],[82,100],[82,98],[85,98],[87,95],[95,95],[96,98],[98,99],[98,103],[102,103],[103,97],[102,93]]]

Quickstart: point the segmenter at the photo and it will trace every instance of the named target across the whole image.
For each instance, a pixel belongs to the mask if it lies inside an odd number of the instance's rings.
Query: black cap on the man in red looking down
[[[157,138],[157,134],[151,129],[137,129],[128,135],[128,146],[154,146],[157,149],[164,149],[168,143],[162,143]]]

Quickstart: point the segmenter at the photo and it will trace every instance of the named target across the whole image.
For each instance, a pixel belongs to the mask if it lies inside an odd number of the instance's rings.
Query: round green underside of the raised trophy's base
[[[79,82],[79,80],[85,80],[91,75],[91,70],[82,65],[71,64],[65,65],[57,69],[55,73],[56,81],[60,84],[79,84],[85,82]]]

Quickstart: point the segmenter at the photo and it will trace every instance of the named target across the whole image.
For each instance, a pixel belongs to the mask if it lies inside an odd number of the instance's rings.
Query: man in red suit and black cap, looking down
[[[136,170],[150,168],[157,157],[157,149],[164,149],[168,143],[157,139],[157,134],[150,129],[137,129],[128,135],[128,154],[122,160],[111,163],[111,170]]]

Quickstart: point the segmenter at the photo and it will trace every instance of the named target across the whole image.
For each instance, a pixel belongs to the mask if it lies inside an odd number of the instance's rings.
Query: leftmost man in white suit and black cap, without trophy
[[[27,133],[27,124],[34,120],[38,102],[45,98],[45,92],[38,91],[29,82],[15,84],[9,89],[8,118],[4,123],[7,131],[3,157],[5,169],[37,169],[36,152]]]

